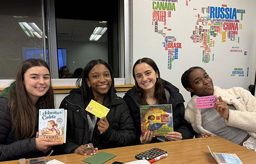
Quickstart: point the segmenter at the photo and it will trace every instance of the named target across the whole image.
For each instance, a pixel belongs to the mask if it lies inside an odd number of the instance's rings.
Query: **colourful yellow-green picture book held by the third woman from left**
[[[173,131],[172,105],[142,105],[140,106],[141,131],[151,131],[154,136],[165,136]]]

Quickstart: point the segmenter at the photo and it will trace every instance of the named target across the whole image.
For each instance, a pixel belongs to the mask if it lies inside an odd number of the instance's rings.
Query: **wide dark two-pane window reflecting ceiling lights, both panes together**
[[[124,3],[128,1],[86,1],[86,5],[61,0],[1,1],[0,69],[4,71],[0,79],[14,79],[17,67],[28,58],[47,61],[53,79],[61,77],[63,66],[73,74],[100,58],[113,68],[116,84],[124,84],[129,72],[125,69],[130,70],[124,55]],[[95,41],[90,40],[93,31],[101,35]]]

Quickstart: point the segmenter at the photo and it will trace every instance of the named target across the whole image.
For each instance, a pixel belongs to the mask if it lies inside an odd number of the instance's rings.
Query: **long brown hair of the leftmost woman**
[[[41,59],[28,59],[18,67],[15,80],[15,91],[10,90],[8,102],[13,132],[17,140],[31,138],[37,132],[37,109],[32,104],[25,85],[24,74],[34,66],[45,66],[49,72],[49,66]],[[37,100],[38,109],[55,108],[54,92],[50,83],[49,90]]]

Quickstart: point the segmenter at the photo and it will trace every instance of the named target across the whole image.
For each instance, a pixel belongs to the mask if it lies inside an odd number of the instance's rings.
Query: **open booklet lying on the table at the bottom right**
[[[209,148],[210,153],[218,164],[243,164],[242,161],[238,158],[237,154],[214,153],[208,145],[207,147]]]

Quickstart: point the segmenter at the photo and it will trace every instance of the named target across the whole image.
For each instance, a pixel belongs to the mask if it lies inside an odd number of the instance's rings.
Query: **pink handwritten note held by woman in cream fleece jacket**
[[[216,98],[216,95],[213,96],[204,96],[204,97],[197,97],[196,103],[197,103],[197,109],[203,109],[203,108],[213,108],[214,102],[213,100]]]

